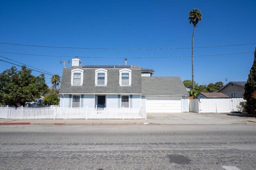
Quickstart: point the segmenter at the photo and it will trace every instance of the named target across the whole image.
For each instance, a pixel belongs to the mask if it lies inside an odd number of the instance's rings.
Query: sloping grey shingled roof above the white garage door
[[[180,77],[142,77],[142,95],[188,95]]]

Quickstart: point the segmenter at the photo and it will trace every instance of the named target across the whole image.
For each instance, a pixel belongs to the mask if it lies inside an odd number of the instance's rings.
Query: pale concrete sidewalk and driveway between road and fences
[[[256,118],[242,113],[148,113],[147,119],[0,119],[0,125],[228,125],[255,123]]]

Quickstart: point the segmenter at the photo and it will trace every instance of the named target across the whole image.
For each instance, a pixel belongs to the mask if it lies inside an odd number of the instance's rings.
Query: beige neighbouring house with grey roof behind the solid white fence
[[[228,95],[230,98],[243,98],[246,82],[228,82],[218,92]]]

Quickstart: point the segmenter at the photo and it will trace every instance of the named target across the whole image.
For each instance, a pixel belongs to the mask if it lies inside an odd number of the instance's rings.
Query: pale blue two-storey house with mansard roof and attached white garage
[[[80,59],[72,59],[72,66],[63,69],[60,107],[146,107],[148,113],[188,111],[188,92],[181,79],[153,77],[153,73],[152,69],[136,65],[81,65]]]

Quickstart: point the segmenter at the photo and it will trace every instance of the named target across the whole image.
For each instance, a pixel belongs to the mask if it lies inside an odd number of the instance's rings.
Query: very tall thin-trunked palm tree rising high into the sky
[[[195,33],[195,28],[196,24],[199,21],[202,21],[202,14],[201,11],[198,9],[193,9],[188,13],[188,20],[189,23],[193,23],[194,29],[193,29],[193,35],[192,35],[192,87],[194,88],[194,33]]]

